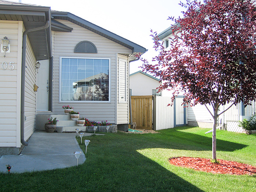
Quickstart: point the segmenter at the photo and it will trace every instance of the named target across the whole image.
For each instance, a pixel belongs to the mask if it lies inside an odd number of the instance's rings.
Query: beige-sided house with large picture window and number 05
[[[129,63],[145,48],[72,13],[9,1],[0,1],[0,28],[9,40],[0,53],[0,155],[18,154],[36,116],[63,114],[63,105],[128,127]]]

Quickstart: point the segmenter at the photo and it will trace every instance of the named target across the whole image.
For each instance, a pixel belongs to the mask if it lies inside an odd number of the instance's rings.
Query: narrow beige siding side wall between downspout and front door
[[[34,92],[34,84],[36,83],[35,71],[36,59],[34,52],[27,38],[26,49],[26,78],[25,78],[25,129],[24,139],[27,140],[35,130],[36,119],[36,94]]]

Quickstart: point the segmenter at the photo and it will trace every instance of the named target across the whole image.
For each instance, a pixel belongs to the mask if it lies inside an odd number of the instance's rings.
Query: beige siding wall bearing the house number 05
[[[0,147],[20,147],[20,34],[22,22],[0,22],[0,37],[10,40],[10,53],[0,53]],[[2,44],[2,42],[1,42]],[[2,69],[2,63],[8,67]],[[9,63],[14,62],[14,70]],[[5,63],[4,63],[5,68]]]

